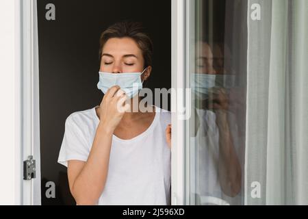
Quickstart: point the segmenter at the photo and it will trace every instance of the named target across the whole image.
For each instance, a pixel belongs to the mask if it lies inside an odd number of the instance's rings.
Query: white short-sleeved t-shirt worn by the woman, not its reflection
[[[131,140],[112,137],[105,188],[98,205],[170,205],[171,153],[165,130],[170,112],[155,107],[146,131]],[[58,161],[86,162],[99,125],[95,107],[68,116]]]

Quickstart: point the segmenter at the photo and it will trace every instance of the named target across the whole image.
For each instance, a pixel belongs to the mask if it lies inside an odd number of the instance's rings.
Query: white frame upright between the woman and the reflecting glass
[[[185,120],[179,119],[179,107],[185,106],[185,5],[186,0],[171,1],[171,87],[176,96],[171,98],[171,204],[185,205]]]

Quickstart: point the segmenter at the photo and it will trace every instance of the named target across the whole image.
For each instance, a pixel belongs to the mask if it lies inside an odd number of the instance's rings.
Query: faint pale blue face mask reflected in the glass
[[[192,74],[191,76],[191,88],[199,99],[207,99],[211,88],[228,89],[235,86],[235,75]]]

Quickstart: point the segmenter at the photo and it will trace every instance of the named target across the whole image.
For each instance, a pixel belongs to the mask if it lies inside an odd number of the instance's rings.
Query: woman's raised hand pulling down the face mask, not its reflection
[[[114,133],[114,129],[129,109],[126,100],[127,95],[119,86],[113,86],[107,91],[99,107],[100,123],[104,129]]]

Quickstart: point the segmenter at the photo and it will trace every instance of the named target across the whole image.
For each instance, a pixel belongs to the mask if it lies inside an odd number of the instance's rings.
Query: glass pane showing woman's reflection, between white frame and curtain
[[[246,1],[190,1],[190,204],[244,203]]]

